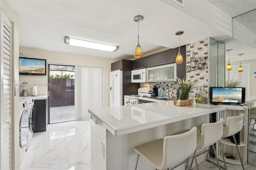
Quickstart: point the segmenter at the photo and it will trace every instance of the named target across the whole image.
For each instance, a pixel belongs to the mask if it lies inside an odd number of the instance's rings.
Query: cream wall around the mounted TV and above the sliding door
[[[80,65],[80,66],[93,66],[103,67],[104,69],[104,107],[109,106],[109,72],[111,70],[111,63],[117,61],[117,59],[110,59],[104,57],[93,57],[86,55],[78,55],[72,53],[62,53],[56,51],[47,51],[42,49],[34,49],[28,47],[20,47],[20,53],[23,52],[26,57],[46,59],[46,63],[58,63],[68,65]],[[21,83],[48,83],[48,66],[46,76],[32,76],[32,75],[20,75]],[[38,87],[38,95],[47,95],[48,87]],[[28,94],[32,94],[32,87],[28,89]]]

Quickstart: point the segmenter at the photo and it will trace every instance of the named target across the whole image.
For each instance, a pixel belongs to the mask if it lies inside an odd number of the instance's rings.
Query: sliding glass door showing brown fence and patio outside
[[[49,121],[60,123],[75,120],[75,66],[49,66]]]

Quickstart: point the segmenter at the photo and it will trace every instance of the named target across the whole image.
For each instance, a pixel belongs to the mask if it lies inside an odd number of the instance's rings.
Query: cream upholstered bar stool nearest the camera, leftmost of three
[[[169,168],[181,165],[184,162],[188,167],[188,157],[196,149],[196,130],[197,128],[193,127],[188,132],[166,136],[134,147],[135,152],[138,153],[135,170],[137,169],[139,156],[142,156],[157,170],[169,170]]]

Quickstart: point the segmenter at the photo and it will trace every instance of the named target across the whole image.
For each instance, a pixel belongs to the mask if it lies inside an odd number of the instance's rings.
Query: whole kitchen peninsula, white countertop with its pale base
[[[134,146],[209,122],[209,114],[224,111],[221,105],[174,106],[173,101],[106,107],[91,114],[92,170],[134,169]],[[198,160],[200,161],[200,160]],[[154,170],[140,159],[138,170]]]

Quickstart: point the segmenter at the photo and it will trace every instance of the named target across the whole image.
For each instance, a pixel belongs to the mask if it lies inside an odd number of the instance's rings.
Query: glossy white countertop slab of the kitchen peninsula
[[[174,106],[173,101],[143,103],[102,109],[89,109],[92,119],[96,119],[114,136],[138,132],[169,123],[182,121],[210,113],[224,111],[221,105],[196,104]]]

